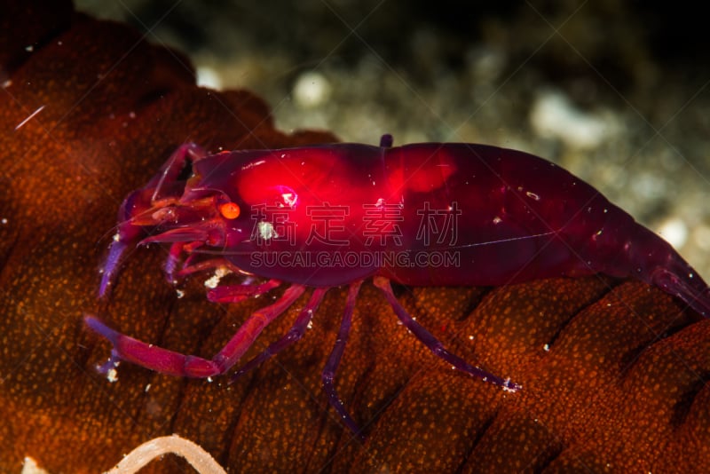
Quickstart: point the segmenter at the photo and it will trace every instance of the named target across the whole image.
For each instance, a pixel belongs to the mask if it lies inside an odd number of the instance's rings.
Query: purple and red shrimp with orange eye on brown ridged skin
[[[447,351],[398,303],[390,281],[500,286],[605,273],[634,276],[710,313],[705,281],[666,241],[568,171],[495,146],[392,147],[389,135],[380,146],[220,154],[187,144],[128,195],[118,220],[100,296],[114,284],[126,250],[153,242],[170,243],[170,281],[208,270],[245,275],[242,284],[210,289],[210,301],[237,303],[282,284],[288,288],[253,313],[212,359],[143,343],[87,316],[88,326],[113,344],[103,371],[128,360],[168,375],[225,374],[272,320],[314,288],[288,334],[234,379],[300,339],[328,288],[350,285],[322,382],[331,406],[355,433],[359,426],[338,398],[334,377],[367,278],[374,277],[398,319],[438,357],[508,391],[521,386]]]

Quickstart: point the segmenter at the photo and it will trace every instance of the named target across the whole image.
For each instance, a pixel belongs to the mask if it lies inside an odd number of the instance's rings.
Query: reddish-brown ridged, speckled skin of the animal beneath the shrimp
[[[27,5],[0,21],[12,19],[20,31],[46,25],[36,15],[46,5]],[[355,400],[354,415],[372,421],[365,446],[328,415],[313,369],[330,351],[323,341],[335,338],[331,318],[314,321],[278,363],[229,387],[130,366],[106,383],[94,368],[106,344],[83,327],[83,312],[209,354],[261,304],[225,310],[205,300],[201,281],[177,300],[162,277],[165,255],[155,249],[138,249],[111,300],[97,302],[101,239],[123,197],[185,137],[225,149],[333,138],[273,130],[263,102],[196,88],[172,55],[136,46],[139,35],[128,28],[75,17],[68,7],[51,20],[31,54],[25,38],[0,28],[8,45],[0,50],[12,58],[12,67],[0,67],[14,84],[0,94],[2,130],[47,106],[18,132],[0,133],[0,217],[7,218],[0,225],[0,471],[19,472],[29,455],[50,472],[95,473],[173,432],[235,471],[710,470],[710,324],[639,281],[535,280],[400,296],[455,352],[524,383],[514,402],[432,358],[376,288],[364,286],[339,384],[343,398]],[[332,290],[319,312],[339,314],[344,296]],[[286,314],[264,339],[279,337],[295,316]],[[178,462],[166,456],[145,471],[187,469]]]

